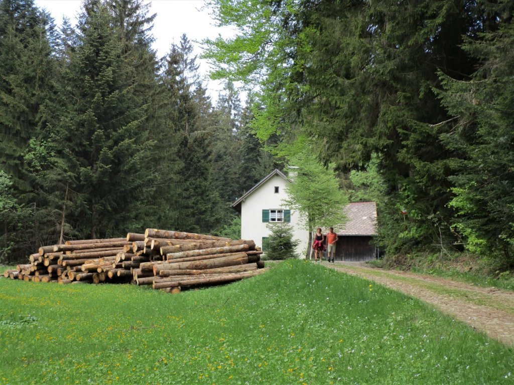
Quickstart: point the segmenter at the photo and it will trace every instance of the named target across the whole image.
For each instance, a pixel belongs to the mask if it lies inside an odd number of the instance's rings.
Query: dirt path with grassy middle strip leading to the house
[[[477,287],[445,278],[384,270],[364,262],[323,264],[417,297],[508,347],[514,347],[514,292]]]

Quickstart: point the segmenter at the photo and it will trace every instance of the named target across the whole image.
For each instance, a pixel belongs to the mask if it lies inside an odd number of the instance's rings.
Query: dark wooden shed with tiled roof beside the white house
[[[345,214],[348,221],[344,227],[334,226],[339,237],[334,259],[360,262],[377,258],[377,248],[371,242],[377,235],[376,203],[350,203],[345,207]]]

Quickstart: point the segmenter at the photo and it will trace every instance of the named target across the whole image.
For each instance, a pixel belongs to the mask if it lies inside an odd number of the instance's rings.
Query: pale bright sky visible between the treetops
[[[229,37],[233,34],[229,27],[215,27],[209,10],[202,10],[203,0],[152,0],[149,14],[156,13],[152,34],[155,37],[153,48],[159,57],[165,56],[173,43],[180,42],[180,36],[185,33],[195,47],[195,54],[201,53],[199,42],[206,37],[215,37],[221,34]],[[67,16],[72,25],[76,24],[76,16],[80,13],[81,0],[35,0],[39,8],[46,8],[55,19],[58,26],[61,26],[63,16]],[[204,87],[213,102],[217,99],[219,90],[222,89],[220,82],[208,79],[210,69],[206,60],[198,59],[200,64],[200,76]]]

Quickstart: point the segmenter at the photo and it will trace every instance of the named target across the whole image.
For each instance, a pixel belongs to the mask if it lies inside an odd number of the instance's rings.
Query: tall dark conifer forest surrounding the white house
[[[377,202],[386,254],[514,267],[512,1],[205,5],[236,29],[202,42],[215,103],[185,34],[157,57],[146,2],[57,26],[0,0],[0,263],[147,227],[238,239],[231,204],[309,153]]]

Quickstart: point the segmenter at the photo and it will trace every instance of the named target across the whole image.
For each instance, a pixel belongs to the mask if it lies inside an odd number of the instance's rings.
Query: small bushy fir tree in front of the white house
[[[295,248],[299,241],[292,239],[292,226],[288,223],[270,223],[269,238],[266,245],[263,245],[265,257],[268,260],[284,260],[297,258]]]

